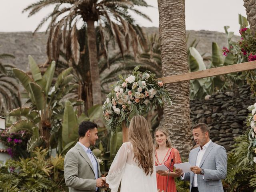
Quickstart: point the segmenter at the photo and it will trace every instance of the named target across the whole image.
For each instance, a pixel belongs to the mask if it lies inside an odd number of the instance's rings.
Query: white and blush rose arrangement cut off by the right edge
[[[248,130],[248,140],[250,145],[248,147],[248,158],[251,164],[256,163],[256,103],[248,107],[250,113],[246,118]]]

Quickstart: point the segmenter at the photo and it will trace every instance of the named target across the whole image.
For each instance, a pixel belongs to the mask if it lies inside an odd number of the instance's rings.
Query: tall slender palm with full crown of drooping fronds
[[[142,42],[144,36],[140,28],[134,24],[134,19],[128,14],[128,10],[150,20],[148,16],[134,7],[148,6],[148,4],[144,0],[40,0],[26,7],[24,11],[29,11],[28,16],[32,16],[48,5],[55,5],[55,8],[52,13],[42,19],[35,32],[51,18],[46,30],[50,32],[47,44],[49,60],[58,60],[62,41],[68,59],[74,60],[76,64],[79,63],[80,52],[88,51],[92,104],[102,104],[98,52],[102,51],[108,58],[106,38],[112,38],[116,40],[122,55],[125,51],[123,41],[127,50],[131,42],[134,54],[136,54],[138,42]],[[87,26],[88,49],[86,50],[80,47],[77,39],[76,24],[79,21],[85,22]],[[98,22],[97,26],[101,35],[102,46],[100,48],[97,48],[96,44],[98,39],[95,22]],[[108,32],[108,37],[105,32]]]

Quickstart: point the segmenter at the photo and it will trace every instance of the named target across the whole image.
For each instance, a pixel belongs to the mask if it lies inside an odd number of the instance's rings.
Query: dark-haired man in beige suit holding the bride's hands
[[[89,146],[98,139],[97,124],[84,121],[79,125],[79,141],[64,159],[64,177],[69,192],[96,192],[104,185],[100,164]]]

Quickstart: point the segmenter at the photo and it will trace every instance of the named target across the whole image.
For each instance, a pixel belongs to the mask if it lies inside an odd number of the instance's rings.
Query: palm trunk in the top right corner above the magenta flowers
[[[256,1],[244,0],[244,7],[246,8],[247,20],[250,24],[250,30],[253,35],[256,33]]]

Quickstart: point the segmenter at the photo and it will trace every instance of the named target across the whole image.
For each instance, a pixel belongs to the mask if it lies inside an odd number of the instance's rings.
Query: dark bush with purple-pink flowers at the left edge
[[[27,157],[28,153],[24,151],[27,148],[27,142],[31,134],[26,131],[10,133],[8,130],[0,132],[0,142],[7,148],[6,151],[12,158]]]

